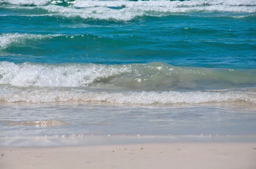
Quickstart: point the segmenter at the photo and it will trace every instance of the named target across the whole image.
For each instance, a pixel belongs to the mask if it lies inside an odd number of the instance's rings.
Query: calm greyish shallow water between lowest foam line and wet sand
[[[1,137],[42,135],[255,135],[250,104],[1,104]],[[48,125],[47,125],[48,123]],[[57,124],[56,124],[57,123]],[[55,124],[55,125],[54,125]]]

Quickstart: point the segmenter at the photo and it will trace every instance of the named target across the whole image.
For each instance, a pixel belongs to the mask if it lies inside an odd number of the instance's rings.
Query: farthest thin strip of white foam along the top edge
[[[229,5],[229,6],[253,6],[255,0],[186,0],[186,1],[169,1],[169,0],[149,0],[149,1],[128,1],[128,0],[2,0],[2,3],[9,4],[34,4],[46,5],[48,3],[75,4],[75,7],[95,7],[95,6],[200,6],[200,5]]]

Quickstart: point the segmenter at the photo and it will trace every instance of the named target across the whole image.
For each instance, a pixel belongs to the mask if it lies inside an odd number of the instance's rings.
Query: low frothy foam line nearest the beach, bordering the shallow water
[[[256,104],[256,90],[194,91],[194,92],[100,92],[76,88],[14,88],[0,89],[0,101],[7,102],[63,102],[86,101],[111,104],[199,104],[211,102],[247,102]]]

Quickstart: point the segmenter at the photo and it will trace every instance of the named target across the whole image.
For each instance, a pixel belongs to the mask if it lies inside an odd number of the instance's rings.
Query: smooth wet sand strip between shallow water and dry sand
[[[256,135],[52,135],[0,137],[0,147],[113,146],[126,144],[256,143]]]

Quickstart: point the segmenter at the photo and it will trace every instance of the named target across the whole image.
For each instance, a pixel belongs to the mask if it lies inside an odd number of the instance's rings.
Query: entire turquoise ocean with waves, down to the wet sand
[[[256,135],[255,0],[0,0],[0,137]]]

